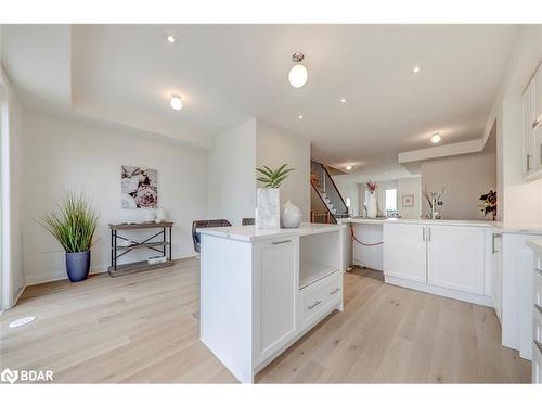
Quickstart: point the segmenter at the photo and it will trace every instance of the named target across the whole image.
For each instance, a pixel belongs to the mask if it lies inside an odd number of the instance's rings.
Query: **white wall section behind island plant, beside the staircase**
[[[310,142],[281,127],[256,123],[256,166],[295,168],[281,185],[281,204],[287,200],[299,206],[304,221],[310,220]]]

